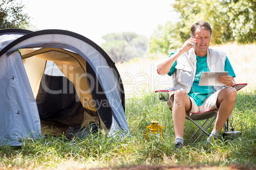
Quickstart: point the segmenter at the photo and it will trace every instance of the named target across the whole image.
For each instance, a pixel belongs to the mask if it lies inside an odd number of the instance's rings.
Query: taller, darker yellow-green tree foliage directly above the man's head
[[[211,42],[250,43],[256,41],[256,2],[239,1],[176,1],[173,8],[180,13],[177,23],[181,41],[190,37],[190,27],[199,20],[210,23],[213,35]]]

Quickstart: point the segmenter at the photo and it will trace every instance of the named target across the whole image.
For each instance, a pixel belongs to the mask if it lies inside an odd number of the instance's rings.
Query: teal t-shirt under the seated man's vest
[[[175,52],[176,51],[174,51],[174,53]],[[171,55],[173,55],[174,53],[171,53]],[[188,96],[194,98],[197,106],[201,106],[203,105],[206,98],[208,98],[215,92],[215,89],[213,88],[213,86],[199,86],[199,81],[200,81],[202,72],[210,71],[207,66],[207,55],[203,57],[196,55],[196,60],[197,60],[196,75],[195,75],[192,88],[188,93]],[[176,65],[177,65],[177,62],[175,61],[168,75],[173,75],[173,72],[176,71],[176,68],[175,68]],[[224,70],[225,72],[229,72],[229,75],[231,75],[232,77],[236,77],[236,74],[234,74],[234,70],[232,69],[231,63],[229,62],[228,58],[225,60]]]

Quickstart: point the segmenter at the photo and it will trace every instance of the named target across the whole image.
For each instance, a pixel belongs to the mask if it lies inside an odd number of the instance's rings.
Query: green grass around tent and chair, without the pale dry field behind
[[[197,128],[186,121],[185,147],[176,150],[173,147],[174,129],[169,108],[165,102],[159,101],[156,94],[146,93],[126,101],[125,115],[131,136],[111,138],[96,134],[78,141],[47,136],[24,141],[22,147],[17,149],[5,145],[0,148],[0,169],[90,169],[153,164],[218,166],[219,169],[235,164],[255,169],[255,96],[255,89],[238,93],[229,122],[230,127],[243,133],[234,141],[225,141],[220,136],[219,140],[210,144],[205,143],[204,135],[194,144],[189,138]],[[157,135],[144,140],[145,127],[153,120],[164,126],[163,141]]]

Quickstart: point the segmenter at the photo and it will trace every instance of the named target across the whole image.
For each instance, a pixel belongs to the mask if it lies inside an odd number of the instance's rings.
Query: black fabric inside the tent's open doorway
[[[68,126],[79,126],[83,121],[82,103],[77,99],[75,88],[66,77],[43,75],[45,84],[49,89],[61,90],[66,86],[66,93],[47,93],[40,86],[36,103],[38,105],[40,118],[45,121],[66,123]]]

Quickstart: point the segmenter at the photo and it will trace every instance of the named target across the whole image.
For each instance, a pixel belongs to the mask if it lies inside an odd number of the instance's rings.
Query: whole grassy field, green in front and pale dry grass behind
[[[77,141],[48,136],[24,141],[17,149],[6,145],[0,148],[0,169],[256,169],[256,45],[213,48],[226,51],[236,81],[248,83],[239,91],[230,119],[230,126],[243,132],[236,140],[220,136],[214,143],[206,143],[203,136],[194,144],[190,136],[197,128],[186,121],[185,147],[176,150],[171,112],[153,93],[171,85],[169,77],[155,72],[157,63],[167,56],[137,58],[117,64],[127,94],[125,115],[131,136],[111,138],[96,134]],[[164,126],[163,140],[155,135],[145,141],[145,127],[152,120]]]

